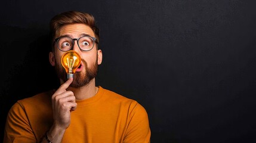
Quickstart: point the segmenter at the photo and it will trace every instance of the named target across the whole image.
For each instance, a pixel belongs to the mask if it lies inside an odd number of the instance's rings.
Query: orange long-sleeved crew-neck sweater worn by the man
[[[53,124],[53,91],[19,100],[11,107],[5,125],[4,143],[40,142]],[[98,93],[76,101],[71,123],[62,142],[150,142],[146,110],[138,102],[99,86]]]

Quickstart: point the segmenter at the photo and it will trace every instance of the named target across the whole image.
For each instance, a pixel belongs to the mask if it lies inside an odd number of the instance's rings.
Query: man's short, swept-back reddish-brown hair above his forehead
[[[65,26],[67,24],[75,24],[82,23],[91,27],[94,32],[97,42],[100,41],[100,32],[98,27],[96,26],[94,17],[88,13],[81,13],[79,11],[66,11],[60,14],[55,15],[50,21],[50,36],[51,43],[54,42],[54,38],[56,36],[56,32],[60,27]]]

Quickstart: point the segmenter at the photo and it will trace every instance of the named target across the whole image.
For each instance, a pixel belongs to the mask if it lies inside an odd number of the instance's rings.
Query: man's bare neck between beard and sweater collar
[[[72,91],[76,97],[76,100],[86,100],[93,97],[98,92],[98,87],[95,87],[95,79],[92,79],[90,83],[81,88],[67,88],[67,91]]]

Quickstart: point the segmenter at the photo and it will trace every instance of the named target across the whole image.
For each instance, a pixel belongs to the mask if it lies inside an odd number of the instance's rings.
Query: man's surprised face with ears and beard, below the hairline
[[[56,32],[56,37],[60,36],[69,36],[70,38],[80,38],[83,35],[89,35],[95,37],[92,29],[85,24],[68,24],[61,27]],[[101,50],[97,50],[96,43],[94,48],[90,51],[81,51],[78,47],[77,42],[73,46],[73,50],[78,52],[82,58],[81,66],[76,69],[74,74],[74,80],[71,83],[71,87],[79,88],[87,85],[92,79],[97,75],[98,64],[101,64],[102,53]],[[63,51],[60,51],[56,44],[54,47],[54,54],[50,52],[50,63],[52,66],[55,66],[57,76],[65,82],[67,80],[67,73],[61,65],[61,56],[64,54]]]

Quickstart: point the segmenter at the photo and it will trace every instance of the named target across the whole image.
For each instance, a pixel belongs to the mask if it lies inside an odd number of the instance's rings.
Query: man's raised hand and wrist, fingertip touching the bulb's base
[[[62,141],[64,132],[70,125],[70,112],[75,110],[77,106],[74,93],[66,90],[72,82],[73,78],[69,78],[51,97],[53,126],[46,134],[47,138],[54,143]],[[46,135],[41,142],[48,142]]]

